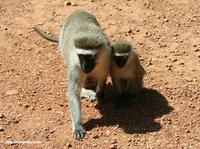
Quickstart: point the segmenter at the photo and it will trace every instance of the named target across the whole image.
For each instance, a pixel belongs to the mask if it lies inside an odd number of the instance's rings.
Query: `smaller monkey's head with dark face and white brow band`
[[[112,48],[112,59],[116,65],[122,68],[129,57],[132,46],[128,41],[118,40],[111,45]]]

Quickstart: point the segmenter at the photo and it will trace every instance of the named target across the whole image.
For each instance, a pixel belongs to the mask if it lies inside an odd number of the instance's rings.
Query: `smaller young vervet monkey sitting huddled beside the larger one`
[[[145,70],[128,41],[118,40],[111,45],[111,48],[112,65],[110,75],[113,86],[117,90],[115,106],[119,107],[130,98],[139,97]]]

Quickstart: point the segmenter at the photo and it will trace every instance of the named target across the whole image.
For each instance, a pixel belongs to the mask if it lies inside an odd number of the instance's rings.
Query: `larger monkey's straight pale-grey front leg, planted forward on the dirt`
[[[80,103],[80,80],[79,76],[76,76],[71,72],[68,76],[68,98],[69,98],[69,110],[71,112],[73,137],[75,139],[81,139],[85,136],[85,129],[81,123],[81,103]]]

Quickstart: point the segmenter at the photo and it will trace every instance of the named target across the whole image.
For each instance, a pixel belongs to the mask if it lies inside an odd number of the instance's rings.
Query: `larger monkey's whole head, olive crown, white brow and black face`
[[[96,66],[97,55],[103,44],[98,37],[80,37],[74,40],[80,66],[83,72],[90,73]]]

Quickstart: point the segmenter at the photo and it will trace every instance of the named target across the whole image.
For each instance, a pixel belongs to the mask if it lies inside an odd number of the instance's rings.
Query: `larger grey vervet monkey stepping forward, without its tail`
[[[59,48],[67,66],[73,137],[81,139],[85,135],[81,122],[81,89],[87,78],[96,79],[96,97],[102,103],[110,68],[110,43],[95,16],[78,10],[64,21],[59,35]]]

